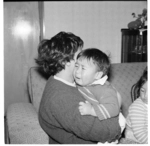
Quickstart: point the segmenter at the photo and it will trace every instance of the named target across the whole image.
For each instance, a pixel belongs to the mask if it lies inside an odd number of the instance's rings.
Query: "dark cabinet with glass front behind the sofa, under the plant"
[[[121,29],[121,62],[147,62],[147,29]]]

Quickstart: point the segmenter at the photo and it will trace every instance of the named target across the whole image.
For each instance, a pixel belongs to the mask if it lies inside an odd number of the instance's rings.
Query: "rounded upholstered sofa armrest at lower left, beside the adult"
[[[11,144],[48,144],[49,137],[39,125],[38,115],[31,103],[14,103],[6,114]]]

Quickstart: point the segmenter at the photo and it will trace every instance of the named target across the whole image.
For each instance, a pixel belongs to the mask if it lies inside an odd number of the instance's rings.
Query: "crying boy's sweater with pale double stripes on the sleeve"
[[[78,86],[84,98],[89,101],[100,120],[115,117],[120,112],[117,91],[111,84]]]

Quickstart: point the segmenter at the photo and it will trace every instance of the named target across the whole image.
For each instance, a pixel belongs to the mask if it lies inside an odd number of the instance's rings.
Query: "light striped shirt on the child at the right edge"
[[[129,107],[127,116],[126,138],[141,144],[148,143],[147,104],[141,98],[136,99]]]

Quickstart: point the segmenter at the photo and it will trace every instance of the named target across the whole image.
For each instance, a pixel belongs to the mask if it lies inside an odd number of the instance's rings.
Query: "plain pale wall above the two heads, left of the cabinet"
[[[141,14],[146,1],[44,2],[45,38],[59,31],[73,32],[84,48],[97,47],[121,62],[121,29]]]

